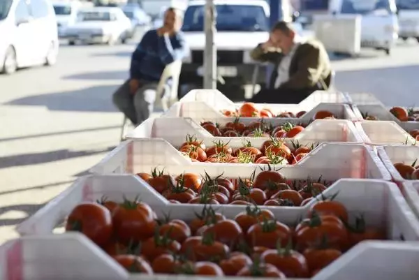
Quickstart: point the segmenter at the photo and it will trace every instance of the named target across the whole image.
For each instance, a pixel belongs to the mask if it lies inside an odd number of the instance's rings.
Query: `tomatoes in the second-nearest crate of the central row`
[[[303,206],[332,182],[307,179],[291,181],[267,168],[247,179],[228,179],[184,173],[172,176],[156,169],[138,173],[152,188],[172,203]]]

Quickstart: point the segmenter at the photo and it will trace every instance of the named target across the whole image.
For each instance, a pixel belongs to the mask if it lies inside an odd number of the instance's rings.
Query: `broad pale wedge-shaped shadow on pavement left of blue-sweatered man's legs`
[[[120,84],[87,87],[75,91],[40,94],[18,98],[6,105],[45,106],[48,110],[82,112],[117,112],[112,94]]]

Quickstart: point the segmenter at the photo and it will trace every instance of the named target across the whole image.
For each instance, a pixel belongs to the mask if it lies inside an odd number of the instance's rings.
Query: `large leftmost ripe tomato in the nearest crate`
[[[112,216],[108,208],[94,202],[82,202],[67,217],[66,231],[79,231],[103,246],[112,235]]]

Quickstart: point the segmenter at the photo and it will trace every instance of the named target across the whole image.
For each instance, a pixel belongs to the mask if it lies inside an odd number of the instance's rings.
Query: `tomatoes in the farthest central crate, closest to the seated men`
[[[303,115],[305,115],[307,111],[300,111],[297,113],[280,112],[275,114],[274,112],[272,112],[272,110],[268,108],[258,110],[254,103],[246,102],[243,103],[243,105],[241,105],[240,108],[235,111],[223,110],[222,113],[226,117],[300,118]],[[335,115],[333,115],[332,112],[329,112],[327,110],[321,110],[316,112],[316,115],[314,115],[314,119],[335,119]]]

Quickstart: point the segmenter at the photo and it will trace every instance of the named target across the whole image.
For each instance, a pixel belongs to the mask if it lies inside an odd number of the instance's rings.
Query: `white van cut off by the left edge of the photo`
[[[57,20],[49,0],[0,1],[0,34],[0,71],[4,73],[57,61]]]

